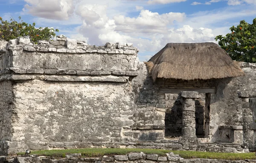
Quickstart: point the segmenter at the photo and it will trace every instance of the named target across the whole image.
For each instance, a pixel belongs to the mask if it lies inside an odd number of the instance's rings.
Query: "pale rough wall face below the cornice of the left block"
[[[32,80],[15,84],[14,96],[17,120],[12,123],[12,141],[29,149],[29,144],[39,142],[63,146],[118,141],[122,127],[134,124],[134,95],[123,83]]]

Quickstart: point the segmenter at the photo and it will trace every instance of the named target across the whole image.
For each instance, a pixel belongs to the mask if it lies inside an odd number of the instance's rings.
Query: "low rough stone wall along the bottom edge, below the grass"
[[[52,157],[31,156],[0,156],[0,163],[255,163],[256,160],[213,160],[213,159],[184,159],[173,152],[167,153],[166,156],[158,154],[129,153],[126,155],[114,155],[113,157],[95,157],[83,158],[81,154],[67,154],[65,158],[54,159]]]

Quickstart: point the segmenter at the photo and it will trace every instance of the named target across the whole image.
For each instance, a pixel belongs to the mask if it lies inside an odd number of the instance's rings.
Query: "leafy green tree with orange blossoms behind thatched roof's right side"
[[[230,28],[231,33],[226,36],[218,35],[215,40],[230,57],[236,61],[256,63],[256,18],[253,24],[244,20],[238,26]]]

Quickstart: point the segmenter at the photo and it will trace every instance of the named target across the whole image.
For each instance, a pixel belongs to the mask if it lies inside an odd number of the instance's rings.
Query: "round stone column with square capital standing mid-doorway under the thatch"
[[[182,107],[182,133],[183,138],[196,138],[195,134],[195,98],[198,98],[198,92],[186,91],[180,92],[183,98]]]

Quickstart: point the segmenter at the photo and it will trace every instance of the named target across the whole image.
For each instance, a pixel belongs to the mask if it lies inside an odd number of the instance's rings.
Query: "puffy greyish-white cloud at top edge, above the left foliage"
[[[23,11],[37,17],[68,20],[73,14],[76,0],[25,0]]]

